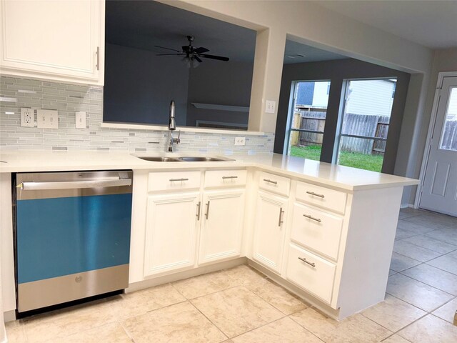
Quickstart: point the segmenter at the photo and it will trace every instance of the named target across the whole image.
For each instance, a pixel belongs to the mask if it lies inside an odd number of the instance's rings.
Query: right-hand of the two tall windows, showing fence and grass
[[[347,80],[338,164],[381,172],[396,79]]]

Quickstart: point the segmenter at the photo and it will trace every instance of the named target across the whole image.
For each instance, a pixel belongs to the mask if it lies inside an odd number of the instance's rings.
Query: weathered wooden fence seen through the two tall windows
[[[326,121],[326,112],[321,111],[300,111],[300,129],[323,131]],[[368,136],[387,138],[388,116],[369,116],[347,113],[343,119],[342,134],[355,136]],[[300,132],[298,145],[322,145],[322,134],[312,132]],[[456,139],[457,140],[457,139]],[[293,143],[292,143],[293,144]],[[358,152],[361,154],[383,154],[386,150],[386,141],[356,137],[341,137],[340,149],[342,151]]]

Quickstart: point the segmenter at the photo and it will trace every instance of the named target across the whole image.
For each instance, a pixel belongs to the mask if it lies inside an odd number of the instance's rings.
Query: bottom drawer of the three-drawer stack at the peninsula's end
[[[331,302],[335,270],[335,264],[293,244],[290,245],[287,279],[328,304]]]

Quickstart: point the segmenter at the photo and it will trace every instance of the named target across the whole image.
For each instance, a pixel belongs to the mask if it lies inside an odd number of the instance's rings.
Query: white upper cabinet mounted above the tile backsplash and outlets
[[[104,84],[101,0],[1,0],[0,71],[84,84]]]

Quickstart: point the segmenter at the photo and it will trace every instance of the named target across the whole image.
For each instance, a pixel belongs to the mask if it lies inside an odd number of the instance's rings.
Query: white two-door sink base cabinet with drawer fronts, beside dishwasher
[[[219,189],[201,188],[201,172],[149,173],[143,277],[241,256],[246,170],[209,175]]]

